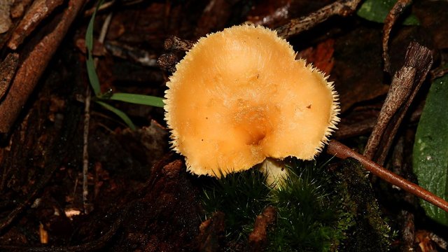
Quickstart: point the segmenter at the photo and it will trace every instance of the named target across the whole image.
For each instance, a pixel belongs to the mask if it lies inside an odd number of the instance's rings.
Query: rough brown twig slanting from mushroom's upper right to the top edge
[[[358,8],[359,3],[360,0],[335,1],[306,17],[290,20],[288,24],[276,29],[277,34],[282,38],[288,38],[315,27],[333,15],[341,15],[343,17],[351,15]]]

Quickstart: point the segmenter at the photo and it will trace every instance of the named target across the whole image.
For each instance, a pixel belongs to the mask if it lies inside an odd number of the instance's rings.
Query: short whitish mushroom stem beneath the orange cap
[[[288,178],[285,162],[273,158],[266,158],[260,164],[260,172],[266,175],[266,183],[272,188],[278,188]]]

